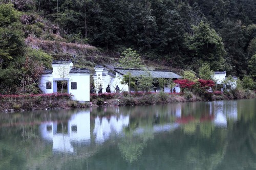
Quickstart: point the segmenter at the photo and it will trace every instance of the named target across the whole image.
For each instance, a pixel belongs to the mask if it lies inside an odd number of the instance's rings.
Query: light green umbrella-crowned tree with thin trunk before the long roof
[[[143,66],[142,61],[140,59],[139,54],[136,51],[132,50],[132,48],[126,49],[121,58],[119,59],[119,65],[125,69],[129,69],[129,93],[130,93],[130,83],[131,83],[131,68],[141,68]]]

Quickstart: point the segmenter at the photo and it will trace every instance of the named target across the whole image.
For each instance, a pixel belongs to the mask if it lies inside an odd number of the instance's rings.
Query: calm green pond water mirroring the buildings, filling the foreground
[[[0,169],[256,169],[255,104],[1,113]]]

